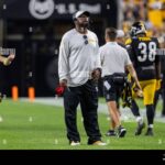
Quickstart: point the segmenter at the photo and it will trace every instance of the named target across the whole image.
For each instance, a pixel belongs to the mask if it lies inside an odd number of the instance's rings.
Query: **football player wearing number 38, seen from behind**
[[[145,135],[153,135],[154,94],[161,87],[161,63],[156,54],[158,41],[146,35],[146,28],[139,21],[131,26],[131,38],[127,41],[127,48],[143,90],[146,107],[147,131]]]

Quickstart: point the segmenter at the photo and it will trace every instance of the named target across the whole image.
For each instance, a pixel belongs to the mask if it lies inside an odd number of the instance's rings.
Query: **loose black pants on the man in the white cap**
[[[78,87],[69,87],[64,94],[65,123],[67,128],[67,138],[69,141],[79,141],[80,136],[77,130],[77,106],[80,108],[84,117],[84,127],[88,135],[88,143],[101,139],[98,124],[98,91],[92,80]]]

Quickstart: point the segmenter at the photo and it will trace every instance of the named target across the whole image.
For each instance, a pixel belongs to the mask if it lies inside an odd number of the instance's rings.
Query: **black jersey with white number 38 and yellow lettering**
[[[155,65],[160,62],[160,56],[156,54],[158,48],[157,38],[133,37],[128,40],[125,44],[139,80],[156,79]]]

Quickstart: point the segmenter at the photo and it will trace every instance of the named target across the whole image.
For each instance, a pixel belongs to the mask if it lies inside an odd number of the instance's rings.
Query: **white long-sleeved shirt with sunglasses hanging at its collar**
[[[59,80],[67,79],[70,87],[84,85],[91,78],[92,70],[101,67],[98,51],[98,37],[94,32],[88,30],[87,34],[80,34],[76,29],[66,32],[59,46]]]

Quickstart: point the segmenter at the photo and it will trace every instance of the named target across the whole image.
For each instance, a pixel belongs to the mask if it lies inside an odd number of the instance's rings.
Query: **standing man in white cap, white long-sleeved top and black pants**
[[[74,14],[75,29],[64,34],[59,46],[58,75],[61,86],[66,88],[64,94],[65,123],[70,145],[80,144],[76,123],[79,102],[88,144],[106,145],[101,142],[97,114],[96,81],[100,77],[99,46],[97,35],[87,29],[89,14],[87,11],[77,11]]]

